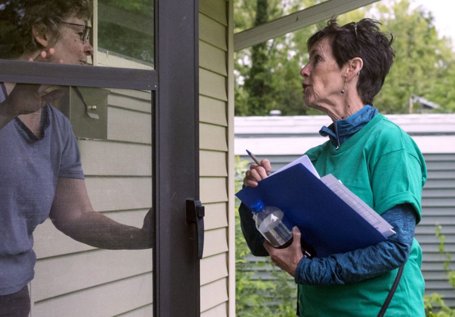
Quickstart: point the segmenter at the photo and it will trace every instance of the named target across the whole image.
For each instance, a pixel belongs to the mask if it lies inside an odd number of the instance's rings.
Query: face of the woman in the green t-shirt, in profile
[[[309,52],[309,62],[300,71],[305,105],[327,113],[342,97],[343,70],[338,67],[327,37],[316,42]]]

